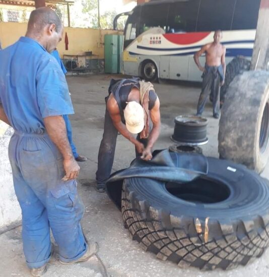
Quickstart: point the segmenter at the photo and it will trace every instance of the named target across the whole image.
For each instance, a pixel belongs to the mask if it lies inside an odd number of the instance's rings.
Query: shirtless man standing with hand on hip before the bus
[[[194,61],[199,70],[203,72],[202,90],[197,105],[197,116],[200,116],[205,108],[207,97],[213,95],[213,117],[220,117],[220,87],[225,82],[225,54],[226,48],[220,41],[222,39],[222,31],[218,30],[214,34],[214,42],[204,45],[198,52],[194,54]],[[206,53],[206,65],[201,66],[199,57]]]

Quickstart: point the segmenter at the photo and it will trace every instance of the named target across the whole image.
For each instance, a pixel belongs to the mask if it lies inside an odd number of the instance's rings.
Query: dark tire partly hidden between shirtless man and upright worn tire
[[[227,93],[227,90],[231,82],[238,74],[242,74],[244,71],[249,71],[250,63],[251,63],[250,60],[246,59],[243,56],[235,57],[228,63],[226,67],[225,83],[221,87],[221,92],[220,92],[221,105],[223,105],[225,101],[225,95]],[[210,101],[213,102],[212,94],[210,94]]]

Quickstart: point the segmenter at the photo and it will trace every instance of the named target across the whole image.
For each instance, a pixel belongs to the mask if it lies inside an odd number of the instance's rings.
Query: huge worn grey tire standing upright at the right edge
[[[269,72],[244,72],[231,83],[219,123],[220,158],[260,173],[268,160]]]

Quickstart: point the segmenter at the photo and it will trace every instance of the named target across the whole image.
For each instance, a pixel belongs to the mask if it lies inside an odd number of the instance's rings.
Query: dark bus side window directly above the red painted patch
[[[171,3],[167,33],[195,32],[199,0]]]

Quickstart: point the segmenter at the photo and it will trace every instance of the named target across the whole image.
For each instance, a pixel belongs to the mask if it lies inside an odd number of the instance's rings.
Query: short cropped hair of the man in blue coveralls
[[[28,30],[39,33],[49,24],[55,24],[55,31],[57,33],[62,29],[61,20],[53,10],[47,7],[38,8],[32,11],[30,15]]]

